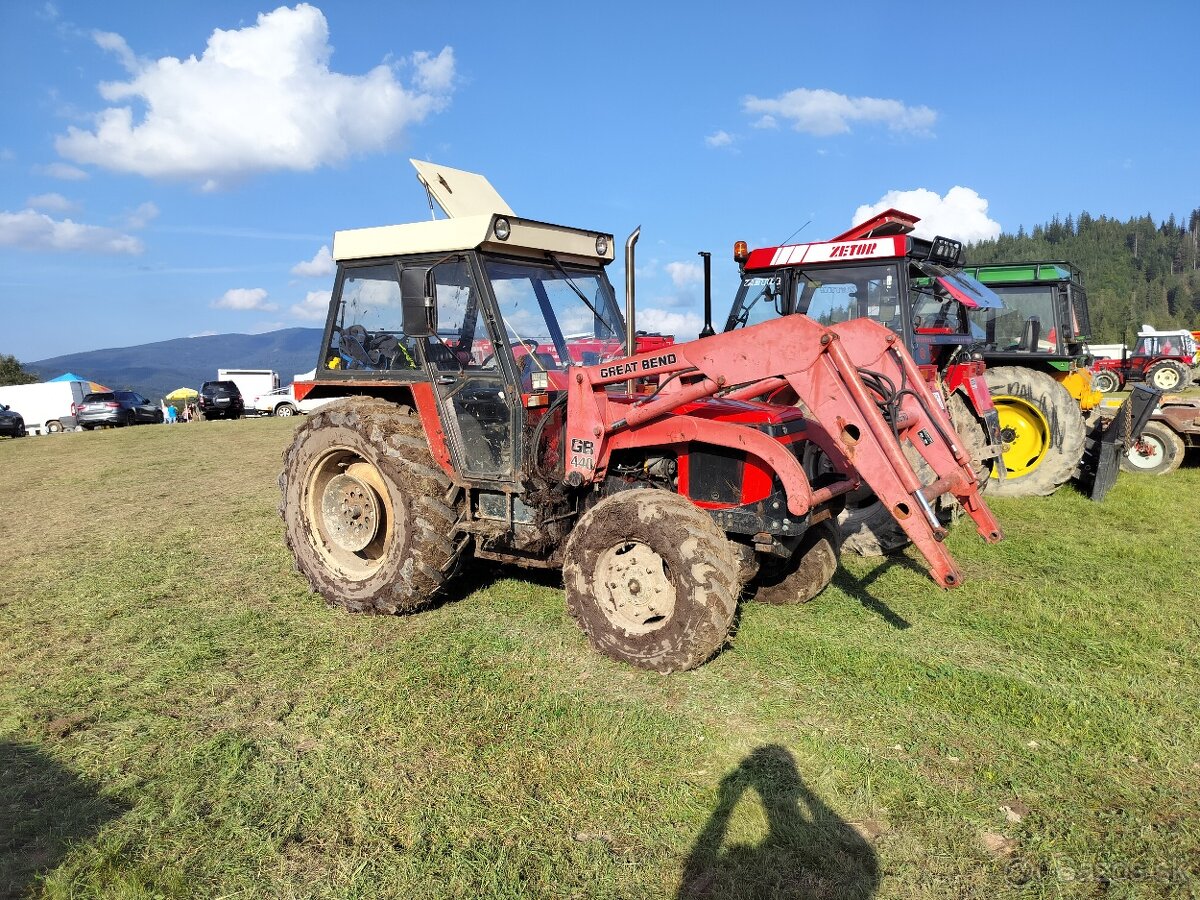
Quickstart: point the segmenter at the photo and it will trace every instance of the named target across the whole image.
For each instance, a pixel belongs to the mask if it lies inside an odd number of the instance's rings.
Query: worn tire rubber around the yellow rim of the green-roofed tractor
[[[996,497],[1046,497],[1070,480],[1084,458],[1087,430],[1079,403],[1045,372],[1021,366],[998,366],[984,372],[992,397],[1016,397],[1040,410],[1050,427],[1045,457],[1020,478],[992,479]],[[1003,427],[1003,424],[1001,424]]]

